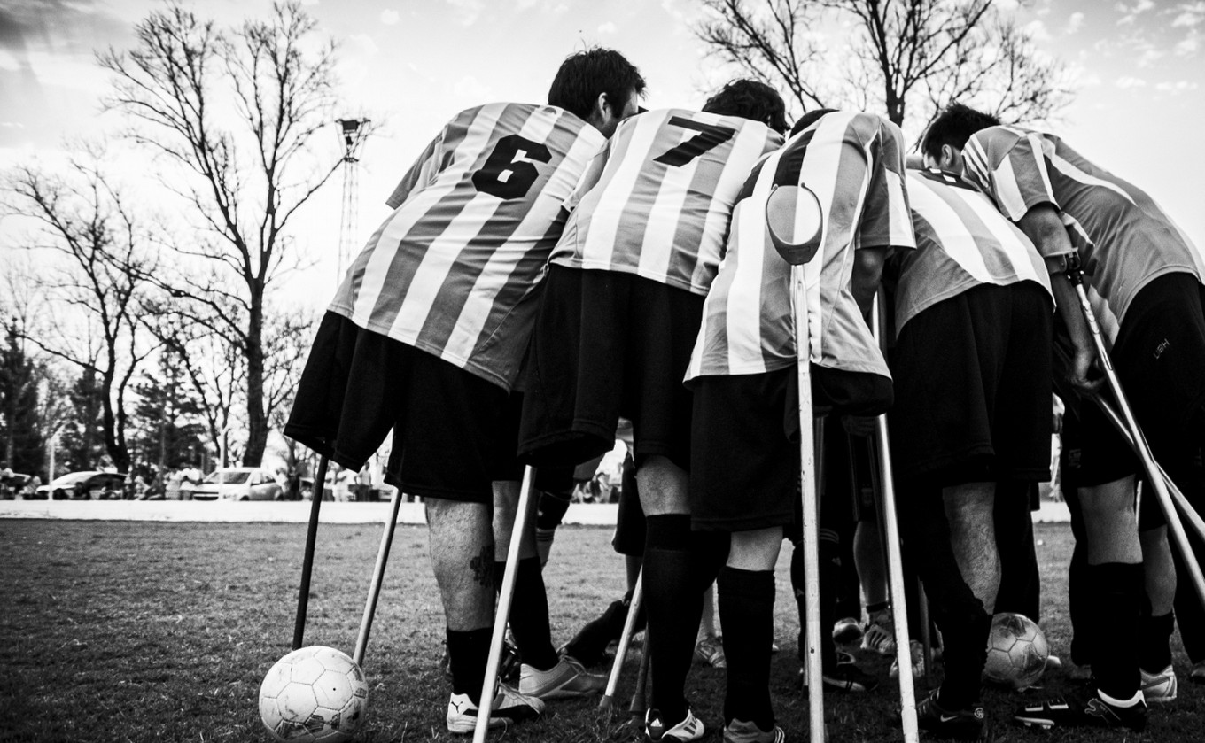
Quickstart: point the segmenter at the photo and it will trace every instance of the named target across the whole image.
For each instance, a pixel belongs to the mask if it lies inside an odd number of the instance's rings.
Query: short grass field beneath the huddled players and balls
[[[380,527],[319,531],[306,644],[351,653],[380,543]],[[1042,626],[1065,656],[1066,525],[1038,527]],[[546,572],[554,641],[566,639],[622,594],[622,561],[610,531],[564,527]],[[0,521],[0,741],[269,741],[257,712],[259,682],[293,637],[305,525],[124,521]],[[789,552],[789,546],[784,546]],[[771,688],[788,741],[807,739],[807,701],[797,686],[798,621],[787,560],[780,562]],[[442,611],[427,561],[425,530],[399,526],[365,672],[372,689],[365,743],[465,741],[443,726],[448,686],[439,671]],[[1205,686],[1156,708],[1144,735],[1039,732],[1013,726],[1024,697],[988,691],[991,739],[1017,742],[1205,739]],[[636,654],[621,685],[627,701]],[[889,661],[862,655],[882,679],[869,695],[827,695],[833,742],[901,739],[890,725],[898,688]],[[1060,673],[1046,692],[1071,688]],[[723,672],[695,666],[690,701],[721,719]],[[918,688],[922,692],[923,683]],[[624,708],[627,704],[624,704]],[[546,718],[492,741],[630,739],[625,715],[600,717],[596,700],[549,704]],[[713,725],[712,725],[713,727]],[[711,733],[709,741],[718,741]]]

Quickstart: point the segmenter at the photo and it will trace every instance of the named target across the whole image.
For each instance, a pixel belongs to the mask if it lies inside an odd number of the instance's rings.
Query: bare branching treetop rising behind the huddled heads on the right
[[[956,99],[1012,120],[1050,118],[1071,99],[1063,64],[993,0],[700,2],[695,34],[712,54],[784,88],[797,111],[877,110],[904,126]]]

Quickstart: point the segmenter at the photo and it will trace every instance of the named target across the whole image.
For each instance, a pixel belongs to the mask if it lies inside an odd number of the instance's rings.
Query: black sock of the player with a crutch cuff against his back
[[[719,571],[716,586],[728,662],[724,724],[735,719],[752,721],[762,730],[772,730],[770,643],[774,642],[774,571],[724,567]]]

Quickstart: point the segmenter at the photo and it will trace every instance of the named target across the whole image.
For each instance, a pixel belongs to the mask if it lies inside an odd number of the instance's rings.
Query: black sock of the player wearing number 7
[[[703,590],[695,590],[690,517],[659,514],[646,519],[643,594],[657,671],[651,707],[666,725],[686,719],[683,688],[703,617]]]

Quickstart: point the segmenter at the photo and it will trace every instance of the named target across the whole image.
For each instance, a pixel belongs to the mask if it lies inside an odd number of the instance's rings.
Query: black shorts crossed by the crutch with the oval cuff
[[[794,366],[695,379],[690,521],[700,531],[790,526],[799,483],[799,381]],[[852,393],[851,390],[860,390]],[[815,407],[890,400],[890,381],[812,367]],[[829,425],[840,426],[833,419]],[[846,501],[848,503],[848,501]]]

